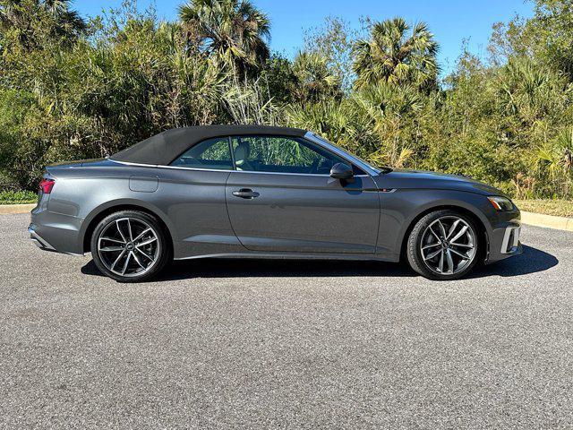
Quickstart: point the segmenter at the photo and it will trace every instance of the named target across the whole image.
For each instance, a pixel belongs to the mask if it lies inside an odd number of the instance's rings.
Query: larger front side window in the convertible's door
[[[231,142],[237,170],[328,175],[332,166],[346,162],[300,138],[236,136]]]

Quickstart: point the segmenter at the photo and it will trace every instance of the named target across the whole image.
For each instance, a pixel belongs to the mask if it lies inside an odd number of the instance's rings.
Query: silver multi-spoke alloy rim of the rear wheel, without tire
[[[107,270],[124,277],[141,276],[158,262],[157,232],[145,221],[121,218],[107,224],[98,237],[98,254]]]

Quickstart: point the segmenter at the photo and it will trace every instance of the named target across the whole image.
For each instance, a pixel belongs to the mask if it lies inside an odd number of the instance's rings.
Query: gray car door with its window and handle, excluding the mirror
[[[372,177],[329,176],[347,161],[304,138],[236,136],[227,210],[235,235],[252,251],[372,254],[380,202]]]

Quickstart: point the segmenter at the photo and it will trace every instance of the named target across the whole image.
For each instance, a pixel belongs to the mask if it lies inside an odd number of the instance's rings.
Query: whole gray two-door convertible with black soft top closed
[[[305,130],[211,125],[47,167],[29,231],[124,282],[204,257],[404,259],[453,280],[520,254],[519,218],[466,177],[376,168]]]

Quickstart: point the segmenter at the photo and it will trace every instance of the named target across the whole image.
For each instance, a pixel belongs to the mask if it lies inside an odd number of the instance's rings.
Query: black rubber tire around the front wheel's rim
[[[473,230],[475,239],[475,251],[470,262],[465,263],[464,267],[456,273],[439,273],[428,267],[428,264],[424,262],[423,259],[423,235],[427,231],[434,221],[437,219],[444,219],[449,217],[457,217],[466,222],[466,224]],[[480,231],[475,222],[467,217],[465,214],[458,211],[441,210],[433,211],[425,215],[422,219],[419,219],[412,231],[410,236],[408,236],[406,244],[406,256],[412,270],[421,274],[424,278],[429,280],[458,280],[466,276],[467,273],[475,268],[475,264],[480,260],[482,256],[482,231]],[[440,248],[440,246],[438,246]],[[437,257],[438,259],[440,256]]]

